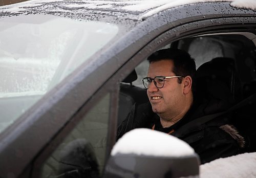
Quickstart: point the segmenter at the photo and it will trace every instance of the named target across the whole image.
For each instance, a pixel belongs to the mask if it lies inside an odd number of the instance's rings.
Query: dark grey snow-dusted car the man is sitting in
[[[0,177],[114,177],[108,171],[118,157],[111,154],[117,126],[135,102],[146,102],[145,59],[163,48],[187,51],[198,80],[208,75],[198,88],[220,104],[208,114],[250,116],[233,122],[248,143],[243,152],[255,152],[255,10],[256,2],[238,0],[31,0],[0,7]],[[214,66],[207,68],[209,61]],[[191,158],[196,176],[200,162]]]

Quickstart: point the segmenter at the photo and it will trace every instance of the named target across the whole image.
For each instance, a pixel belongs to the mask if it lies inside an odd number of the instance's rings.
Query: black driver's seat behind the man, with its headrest
[[[243,99],[242,83],[238,77],[235,62],[231,58],[218,57],[202,64],[196,72],[196,93],[204,114],[223,112]],[[254,103],[248,103],[232,112],[230,124],[236,126],[245,138],[246,147],[242,151],[255,151],[256,136],[253,128]]]

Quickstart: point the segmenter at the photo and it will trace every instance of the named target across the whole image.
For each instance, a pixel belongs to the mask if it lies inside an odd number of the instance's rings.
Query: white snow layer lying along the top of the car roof
[[[112,1],[67,1],[67,0],[32,0],[3,6],[2,12],[81,12],[92,14],[114,15],[118,17],[141,20],[162,10],[193,4],[209,2],[230,2],[232,7],[256,9],[255,0],[112,0]]]

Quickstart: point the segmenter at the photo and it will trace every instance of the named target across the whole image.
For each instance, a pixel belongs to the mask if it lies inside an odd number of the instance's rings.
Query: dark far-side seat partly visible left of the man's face
[[[123,81],[120,83],[119,93],[119,108],[118,108],[118,121],[120,123],[129,114],[134,103],[145,103],[148,101],[146,90],[144,88],[134,86],[133,81],[137,79],[137,73],[135,70],[132,71]]]

